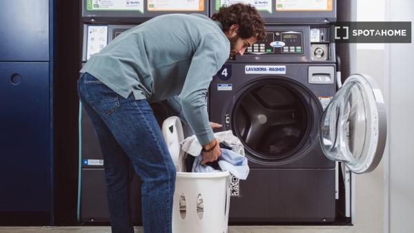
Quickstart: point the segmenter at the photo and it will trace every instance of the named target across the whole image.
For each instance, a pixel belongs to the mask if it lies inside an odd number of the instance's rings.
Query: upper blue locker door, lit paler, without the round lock
[[[49,0],[0,1],[0,61],[49,60]]]

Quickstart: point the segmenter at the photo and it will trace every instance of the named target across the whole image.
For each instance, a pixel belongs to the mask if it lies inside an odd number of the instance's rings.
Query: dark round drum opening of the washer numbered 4
[[[246,88],[233,108],[233,131],[244,147],[260,162],[277,162],[299,156],[297,153],[311,135],[317,100],[306,88],[291,80],[261,80]]]

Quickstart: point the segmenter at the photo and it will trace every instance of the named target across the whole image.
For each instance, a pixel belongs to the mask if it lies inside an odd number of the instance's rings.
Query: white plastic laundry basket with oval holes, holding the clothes
[[[166,119],[162,132],[177,169],[172,233],[227,233],[230,173],[183,172],[185,161],[180,142],[184,135],[179,118]]]

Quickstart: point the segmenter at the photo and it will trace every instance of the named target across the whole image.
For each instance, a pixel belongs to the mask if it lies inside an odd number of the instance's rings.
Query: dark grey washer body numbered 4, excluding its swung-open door
[[[213,78],[210,121],[242,140],[250,167],[247,180],[233,180],[230,223],[335,220],[335,162],[319,143],[319,120],[336,93],[329,30],[268,26],[266,39]]]

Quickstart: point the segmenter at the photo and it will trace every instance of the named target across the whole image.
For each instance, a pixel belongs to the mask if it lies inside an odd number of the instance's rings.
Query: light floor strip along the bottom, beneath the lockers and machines
[[[353,227],[336,226],[230,226],[228,233],[356,233]],[[0,227],[0,233],[110,233],[110,227]],[[143,233],[142,227],[135,233]],[[194,232],[197,233],[197,232]],[[213,233],[213,232],[212,232]],[[361,233],[361,232],[359,232]]]

